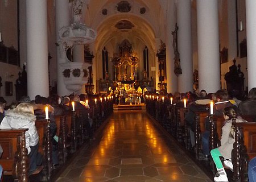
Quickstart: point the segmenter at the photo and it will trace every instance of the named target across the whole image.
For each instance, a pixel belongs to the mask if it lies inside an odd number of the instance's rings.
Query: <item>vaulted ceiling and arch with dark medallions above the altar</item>
[[[119,40],[118,42],[137,39],[155,49],[155,38],[161,38],[164,34],[167,1],[169,0],[88,1],[88,5],[84,7],[84,20],[97,31],[96,50],[101,50],[113,39]],[[117,24],[120,22],[130,22],[132,26],[118,28]]]

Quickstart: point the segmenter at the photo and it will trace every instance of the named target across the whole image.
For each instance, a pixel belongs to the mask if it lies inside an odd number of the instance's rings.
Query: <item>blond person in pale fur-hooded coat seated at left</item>
[[[36,117],[34,115],[34,107],[28,103],[20,103],[13,110],[6,111],[6,117],[0,125],[0,129],[28,129],[26,131],[26,148],[30,158],[30,171],[36,170],[38,159],[38,131],[35,127]]]

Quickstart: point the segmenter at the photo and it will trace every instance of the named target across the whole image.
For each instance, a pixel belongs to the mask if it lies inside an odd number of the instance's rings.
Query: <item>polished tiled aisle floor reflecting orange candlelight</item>
[[[212,181],[146,111],[116,111],[57,181]]]

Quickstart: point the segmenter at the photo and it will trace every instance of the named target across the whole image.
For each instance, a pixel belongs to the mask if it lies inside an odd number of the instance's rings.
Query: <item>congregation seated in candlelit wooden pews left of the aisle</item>
[[[81,98],[84,101],[80,102],[79,96],[36,96],[34,101],[23,97],[20,104],[1,112],[3,181],[29,181],[35,174],[42,181],[51,180],[54,171],[68,162],[68,156],[88,144],[87,139],[93,138],[94,131],[112,113],[113,100],[99,96]],[[72,102],[81,107],[76,105],[73,109]],[[0,103],[0,111],[1,106]]]

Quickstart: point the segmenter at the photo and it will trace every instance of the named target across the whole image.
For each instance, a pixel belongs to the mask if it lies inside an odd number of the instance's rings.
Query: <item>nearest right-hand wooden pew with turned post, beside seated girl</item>
[[[256,122],[234,123],[234,126],[233,181],[248,181],[248,163],[256,156]]]

